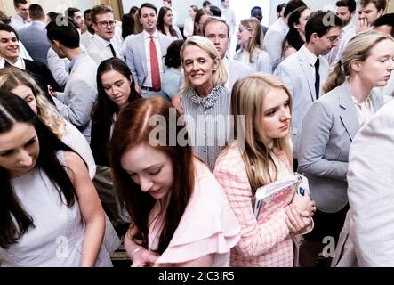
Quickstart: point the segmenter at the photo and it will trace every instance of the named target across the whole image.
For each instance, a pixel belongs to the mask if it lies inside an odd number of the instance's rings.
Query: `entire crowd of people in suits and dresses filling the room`
[[[394,265],[394,14],[0,11],[0,266]],[[356,16],[358,14],[358,16]],[[180,28],[181,27],[181,28]],[[237,50],[230,39],[237,37]],[[309,183],[256,192],[294,172]],[[334,248],[327,252],[326,240]]]

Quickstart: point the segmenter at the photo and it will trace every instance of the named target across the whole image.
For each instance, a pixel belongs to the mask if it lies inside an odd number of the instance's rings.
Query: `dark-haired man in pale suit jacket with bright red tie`
[[[144,30],[126,43],[127,65],[132,71],[136,89],[141,90],[143,97],[165,96],[161,90],[164,74],[162,59],[173,38],[157,32],[157,8],[153,4],[142,4],[139,16]]]

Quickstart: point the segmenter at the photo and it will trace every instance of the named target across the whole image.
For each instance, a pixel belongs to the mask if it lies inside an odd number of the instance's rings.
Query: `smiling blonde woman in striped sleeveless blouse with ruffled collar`
[[[188,37],[181,47],[185,74],[179,102],[188,122],[194,151],[213,170],[227,142],[226,132],[231,94],[224,85],[227,70],[213,43],[206,37]],[[173,103],[177,102],[177,96]]]

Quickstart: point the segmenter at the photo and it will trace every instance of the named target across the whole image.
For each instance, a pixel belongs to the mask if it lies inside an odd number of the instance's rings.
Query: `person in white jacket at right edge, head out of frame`
[[[394,101],[378,110],[351,143],[350,210],[335,250],[336,266],[394,266]],[[366,151],[368,150],[368,151]]]

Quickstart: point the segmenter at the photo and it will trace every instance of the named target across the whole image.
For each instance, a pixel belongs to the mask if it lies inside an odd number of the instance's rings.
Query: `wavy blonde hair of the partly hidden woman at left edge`
[[[48,126],[53,134],[61,139],[66,133],[66,121],[60,116],[58,111],[44,97],[41,88],[36,81],[26,72],[16,69],[7,68],[0,69],[0,88],[6,91],[12,91],[19,85],[28,86],[36,97],[37,116],[46,126]]]

